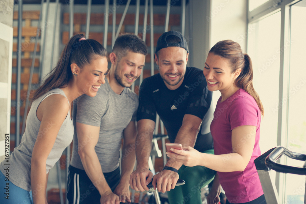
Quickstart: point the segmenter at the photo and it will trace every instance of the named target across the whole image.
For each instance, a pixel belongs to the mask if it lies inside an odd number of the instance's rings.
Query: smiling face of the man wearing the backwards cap
[[[183,83],[188,61],[187,51],[181,47],[166,47],[155,54],[155,62],[159,67],[159,74],[166,87],[175,90]]]

